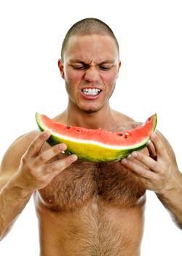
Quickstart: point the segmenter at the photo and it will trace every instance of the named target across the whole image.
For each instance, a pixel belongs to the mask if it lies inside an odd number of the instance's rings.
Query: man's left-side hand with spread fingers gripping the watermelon
[[[25,191],[33,192],[36,189],[46,187],[52,178],[58,175],[62,170],[66,169],[71,163],[75,162],[76,155],[66,156],[63,159],[49,162],[52,157],[66,150],[66,145],[61,143],[46,151],[41,148],[50,138],[50,132],[41,132],[28,147],[28,150],[23,155],[19,170],[17,171],[18,184]]]

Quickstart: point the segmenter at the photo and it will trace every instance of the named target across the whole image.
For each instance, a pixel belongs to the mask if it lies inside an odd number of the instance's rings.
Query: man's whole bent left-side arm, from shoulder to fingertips
[[[48,132],[42,132],[32,143],[30,138],[20,138],[4,155],[0,170],[0,239],[12,227],[33,192],[46,187],[52,178],[76,160],[72,155],[50,163],[52,157],[66,150],[66,145],[53,146],[40,154],[49,137]]]

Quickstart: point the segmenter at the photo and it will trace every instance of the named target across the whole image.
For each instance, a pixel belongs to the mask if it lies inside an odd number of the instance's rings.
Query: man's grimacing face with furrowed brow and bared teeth
[[[109,36],[72,36],[58,61],[65,79],[69,104],[85,112],[95,112],[108,104],[118,76],[119,54]]]

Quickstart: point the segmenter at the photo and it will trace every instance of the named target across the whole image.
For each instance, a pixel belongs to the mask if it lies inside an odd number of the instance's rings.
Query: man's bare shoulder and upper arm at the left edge
[[[17,138],[4,154],[1,160],[0,175],[15,173],[20,165],[20,159],[27,150],[31,141],[39,135],[39,130],[33,130]]]

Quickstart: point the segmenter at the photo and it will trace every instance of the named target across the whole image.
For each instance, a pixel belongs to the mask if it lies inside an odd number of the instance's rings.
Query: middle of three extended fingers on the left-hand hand
[[[38,157],[36,157],[36,160],[34,161],[34,165],[42,165],[55,157],[56,155],[60,154],[60,152],[63,152],[66,150],[66,144],[61,143],[55,146],[52,146],[52,148],[47,149],[46,151],[41,152]]]

